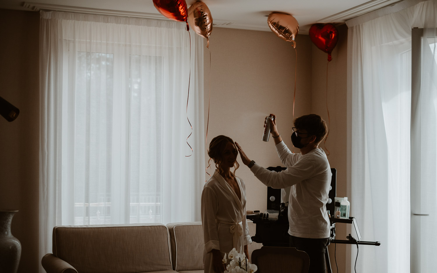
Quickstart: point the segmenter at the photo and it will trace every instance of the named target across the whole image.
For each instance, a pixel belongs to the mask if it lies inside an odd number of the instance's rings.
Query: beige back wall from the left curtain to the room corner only
[[[311,113],[311,41],[296,37],[295,117]],[[208,144],[217,135],[238,142],[261,166],[280,166],[274,142],[261,140],[264,118],[277,115],[278,130],[291,145],[296,52],[291,43],[267,31],[214,28],[211,49],[211,108]],[[205,128],[208,115],[209,55],[205,51]],[[205,153],[208,159],[208,155]],[[236,175],[246,183],[247,209],[264,212],[267,187],[237,160]],[[214,170],[214,164],[212,164]]]

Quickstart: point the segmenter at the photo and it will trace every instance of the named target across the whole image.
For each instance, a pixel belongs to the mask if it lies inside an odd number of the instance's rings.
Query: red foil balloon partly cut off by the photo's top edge
[[[153,5],[165,17],[174,20],[187,22],[188,27],[188,8],[185,0],[153,0]]]

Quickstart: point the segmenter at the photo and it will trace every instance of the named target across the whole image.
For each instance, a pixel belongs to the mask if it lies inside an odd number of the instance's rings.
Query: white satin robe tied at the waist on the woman
[[[203,187],[201,213],[205,239],[205,273],[214,272],[210,252],[212,249],[219,249],[223,257],[224,253],[229,253],[234,247],[243,253],[243,246],[252,243],[246,222],[246,187],[239,177],[235,179],[241,200],[217,170]]]

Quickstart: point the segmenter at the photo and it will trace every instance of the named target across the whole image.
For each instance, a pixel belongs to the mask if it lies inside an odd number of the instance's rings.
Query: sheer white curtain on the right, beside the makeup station
[[[352,109],[351,215],[357,218],[363,239],[382,242],[380,246],[359,247],[357,272],[406,273],[410,272],[410,254],[411,261],[416,255],[410,251],[410,232],[416,232],[413,225],[410,231],[410,224],[416,221],[410,207],[410,200],[414,202],[410,199],[410,181],[413,189],[414,181],[420,179],[414,176],[417,162],[411,157],[417,150],[426,151],[421,154],[420,166],[428,174],[428,190],[433,190],[429,194],[434,198],[427,204],[434,226],[437,212],[436,90],[431,84],[435,76],[427,77],[423,85],[426,88],[420,90],[427,94],[420,105],[422,116],[427,116],[417,131],[421,141],[410,138],[410,129],[417,125],[411,107],[411,29],[427,26],[434,33],[436,1],[406,0],[351,19],[347,25]],[[430,54],[426,58],[430,59],[422,72],[435,74],[435,51],[430,52],[428,43],[423,48],[427,48]],[[434,243],[422,250],[422,261],[428,259],[427,255],[437,254],[432,246],[436,245],[435,233],[427,232],[426,236]],[[411,238],[411,245],[414,243]],[[351,250],[354,271],[357,248],[352,246]],[[434,258],[422,264],[422,272],[433,272],[425,270],[425,263],[434,265]],[[411,272],[420,270],[411,266]]]

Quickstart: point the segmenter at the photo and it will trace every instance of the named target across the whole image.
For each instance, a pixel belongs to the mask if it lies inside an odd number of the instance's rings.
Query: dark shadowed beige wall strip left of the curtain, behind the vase
[[[0,117],[0,209],[18,210],[18,272],[38,272],[39,14],[0,9],[0,97],[20,109]]]

